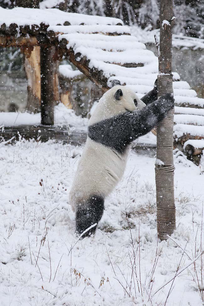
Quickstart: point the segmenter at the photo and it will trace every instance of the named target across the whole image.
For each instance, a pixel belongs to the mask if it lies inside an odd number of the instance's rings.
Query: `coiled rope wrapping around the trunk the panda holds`
[[[158,97],[173,92],[172,74],[158,75],[157,87]],[[173,126],[174,110],[171,110],[157,126],[157,159],[164,163],[155,167],[157,231],[161,240],[175,228]]]

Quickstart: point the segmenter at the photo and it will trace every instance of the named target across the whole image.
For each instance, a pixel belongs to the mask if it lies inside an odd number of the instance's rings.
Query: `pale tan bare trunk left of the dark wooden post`
[[[28,82],[28,100],[26,109],[29,112],[40,112],[40,47],[35,46],[30,57],[25,57],[25,73]]]

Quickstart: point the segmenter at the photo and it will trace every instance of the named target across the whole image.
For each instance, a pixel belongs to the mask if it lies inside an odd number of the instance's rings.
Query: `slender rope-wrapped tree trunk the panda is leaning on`
[[[158,96],[173,92],[172,30],[173,0],[160,4],[160,53],[158,74]],[[157,192],[158,238],[167,239],[175,229],[174,161],[173,161],[174,110],[157,126],[157,161],[155,163]]]

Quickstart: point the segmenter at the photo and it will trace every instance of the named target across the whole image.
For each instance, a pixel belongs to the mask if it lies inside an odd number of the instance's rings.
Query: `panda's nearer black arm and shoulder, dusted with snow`
[[[173,107],[173,95],[163,95],[140,111],[125,112],[90,125],[88,136],[102,145],[123,153],[127,145],[150,132]]]

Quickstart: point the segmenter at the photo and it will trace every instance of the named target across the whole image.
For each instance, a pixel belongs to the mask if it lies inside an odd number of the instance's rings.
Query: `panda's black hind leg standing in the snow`
[[[80,235],[91,225],[100,221],[103,216],[104,198],[100,196],[91,196],[85,203],[77,205],[76,210],[76,232]],[[94,234],[96,227],[92,227],[83,234],[83,238]]]

